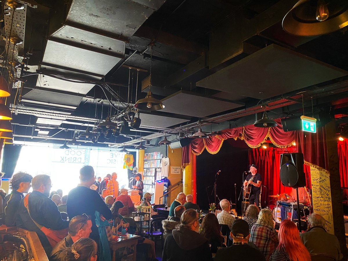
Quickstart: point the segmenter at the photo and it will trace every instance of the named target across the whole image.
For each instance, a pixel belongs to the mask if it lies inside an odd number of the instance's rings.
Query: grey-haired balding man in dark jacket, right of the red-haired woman
[[[326,221],[317,213],[308,216],[308,230],[300,234],[304,246],[309,253],[323,253],[331,255],[335,260],[341,260],[340,243],[335,235],[326,232]]]

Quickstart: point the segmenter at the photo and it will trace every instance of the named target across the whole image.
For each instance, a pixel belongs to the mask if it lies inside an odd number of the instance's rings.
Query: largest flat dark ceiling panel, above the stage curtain
[[[196,85],[266,99],[347,74],[345,70],[272,44]]]

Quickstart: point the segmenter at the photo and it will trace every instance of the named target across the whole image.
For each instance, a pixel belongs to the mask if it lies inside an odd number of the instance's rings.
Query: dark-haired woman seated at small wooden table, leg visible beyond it
[[[135,234],[136,228],[129,226],[129,223],[120,214],[120,210],[122,207],[124,207],[123,203],[121,201],[116,201],[115,203],[112,204],[112,207],[110,208],[115,230],[121,231],[122,224],[126,224],[126,228],[128,228],[128,233]],[[155,242],[153,242],[152,240],[150,240],[148,238],[144,238],[144,241],[142,241],[141,243],[149,244],[151,246],[151,256],[150,257],[156,258]]]

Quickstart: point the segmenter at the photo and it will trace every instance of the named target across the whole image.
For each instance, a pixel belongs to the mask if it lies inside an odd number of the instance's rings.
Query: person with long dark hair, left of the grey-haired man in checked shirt
[[[215,214],[208,213],[205,215],[200,226],[200,230],[200,234],[208,239],[208,242],[211,245],[210,250],[212,253],[216,253],[218,247],[223,247],[225,237],[220,231],[219,221],[217,221]]]

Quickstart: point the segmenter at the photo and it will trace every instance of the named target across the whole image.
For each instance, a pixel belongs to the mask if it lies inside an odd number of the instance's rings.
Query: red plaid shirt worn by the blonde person
[[[251,228],[250,234],[249,241],[260,249],[266,260],[269,260],[279,243],[277,231],[274,227],[256,223]]]

